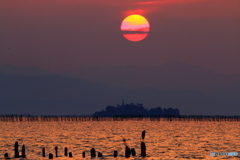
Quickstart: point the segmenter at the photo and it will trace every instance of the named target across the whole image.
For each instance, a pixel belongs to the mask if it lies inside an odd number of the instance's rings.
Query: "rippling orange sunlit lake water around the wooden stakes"
[[[42,158],[42,147],[46,155],[54,154],[58,146],[58,158],[91,159],[92,147],[102,152],[105,158],[123,160],[125,146],[140,155],[141,132],[146,130],[144,142],[147,147],[146,160],[180,159],[239,159],[233,156],[210,157],[210,151],[238,152],[240,154],[239,122],[187,122],[187,121],[86,121],[86,122],[0,122],[0,157],[8,152],[13,157],[15,141],[25,144],[27,159]],[[122,138],[123,137],[123,138]],[[64,157],[68,147],[73,158]],[[19,147],[21,148],[21,147]],[[113,151],[118,151],[118,158]],[[1,156],[2,155],[2,156]],[[122,157],[121,157],[122,156]],[[99,158],[95,158],[98,160]],[[142,159],[140,157],[128,158]]]

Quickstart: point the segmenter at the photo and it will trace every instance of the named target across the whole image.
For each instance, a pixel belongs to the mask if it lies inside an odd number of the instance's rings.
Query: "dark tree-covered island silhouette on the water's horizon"
[[[94,117],[116,117],[116,116],[163,116],[163,115],[172,115],[179,116],[179,109],[164,108],[161,107],[146,109],[142,104],[124,104],[114,106],[107,106],[105,110],[95,112]]]

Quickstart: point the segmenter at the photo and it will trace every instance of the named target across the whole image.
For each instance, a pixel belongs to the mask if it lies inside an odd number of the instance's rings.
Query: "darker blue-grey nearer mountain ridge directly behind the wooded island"
[[[0,74],[0,113],[89,115],[125,99],[126,102],[143,103],[146,108],[178,108],[183,115],[236,115],[240,114],[240,83],[234,89],[212,94],[150,87],[126,89],[59,75]]]

